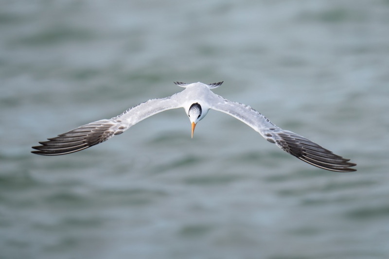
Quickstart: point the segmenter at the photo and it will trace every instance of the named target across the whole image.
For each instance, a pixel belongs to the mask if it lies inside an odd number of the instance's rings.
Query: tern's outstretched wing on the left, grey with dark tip
[[[97,145],[115,135],[122,134],[129,127],[147,117],[182,107],[176,97],[177,94],[163,99],[149,100],[112,119],[94,121],[60,134],[58,137],[48,138],[49,141],[39,142],[40,146],[33,147],[37,151],[31,152],[38,155],[65,155]]]

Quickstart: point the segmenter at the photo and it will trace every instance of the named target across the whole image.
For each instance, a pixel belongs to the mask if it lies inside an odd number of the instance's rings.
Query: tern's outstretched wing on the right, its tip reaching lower
[[[231,102],[215,94],[210,108],[230,114],[232,117],[245,122],[269,142],[275,143],[282,150],[304,162],[330,171],[356,171],[354,168],[351,168],[356,164],[349,163],[350,159],[335,155],[307,138],[277,127],[250,106]]]

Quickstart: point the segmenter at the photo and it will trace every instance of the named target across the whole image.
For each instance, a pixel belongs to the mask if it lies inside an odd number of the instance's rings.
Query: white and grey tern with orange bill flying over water
[[[69,132],[39,142],[32,147],[37,155],[65,155],[78,152],[120,135],[136,123],[169,109],[184,108],[192,125],[192,138],[198,121],[204,119],[210,109],[220,111],[246,123],[267,141],[276,144],[283,151],[321,169],[335,172],[354,172],[356,166],[350,159],[335,155],[317,143],[296,133],[277,127],[264,115],[248,105],[229,101],[211,89],[224,81],[212,84],[200,82],[186,84],[174,82],[185,89],[170,97],[151,99],[127,109],[109,120],[90,122]]]

